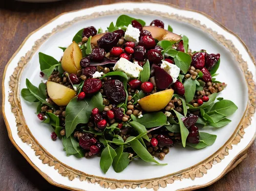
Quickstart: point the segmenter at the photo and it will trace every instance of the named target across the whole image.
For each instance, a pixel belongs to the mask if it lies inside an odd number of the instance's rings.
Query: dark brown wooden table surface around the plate
[[[132,1],[132,0],[130,0]],[[156,1],[156,0],[155,0]],[[5,2],[5,3],[3,3]],[[120,1],[64,1],[48,4],[14,2],[0,3],[0,74],[26,36],[60,13]],[[182,8],[207,13],[228,29],[238,34],[256,57],[256,1],[255,0],[172,0]],[[2,105],[2,89],[0,90]],[[0,190],[62,190],[42,178],[14,148],[8,138],[0,111]],[[248,156],[218,182],[201,190],[256,190],[256,143]]]

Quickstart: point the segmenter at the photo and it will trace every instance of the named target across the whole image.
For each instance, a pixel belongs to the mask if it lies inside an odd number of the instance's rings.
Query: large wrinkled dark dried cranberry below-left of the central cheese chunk
[[[125,101],[126,93],[123,83],[120,80],[108,80],[104,83],[104,92],[108,99],[115,103],[121,103]]]

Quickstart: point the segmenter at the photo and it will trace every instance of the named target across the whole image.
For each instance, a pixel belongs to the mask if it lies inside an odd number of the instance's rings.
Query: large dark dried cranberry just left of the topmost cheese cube
[[[109,51],[115,46],[120,36],[118,33],[106,33],[99,40],[97,40],[98,46],[102,49]]]

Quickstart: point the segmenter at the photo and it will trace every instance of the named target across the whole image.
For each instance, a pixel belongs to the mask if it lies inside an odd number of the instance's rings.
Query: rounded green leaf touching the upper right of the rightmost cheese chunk
[[[186,74],[191,63],[191,56],[187,53],[178,52],[177,56],[174,57],[174,62]]]

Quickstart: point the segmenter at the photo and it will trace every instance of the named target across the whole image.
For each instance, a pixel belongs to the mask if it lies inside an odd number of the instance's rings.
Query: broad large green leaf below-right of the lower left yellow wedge
[[[91,116],[92,109],[97,107],[99,111],[104,109],[101,93],[98,92],[91,99],[77,101],[73,98],[66,108],[66,135],[69,137],[78,124],[87,124]]]

